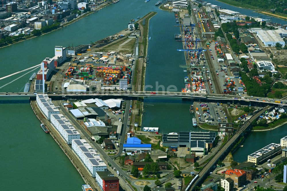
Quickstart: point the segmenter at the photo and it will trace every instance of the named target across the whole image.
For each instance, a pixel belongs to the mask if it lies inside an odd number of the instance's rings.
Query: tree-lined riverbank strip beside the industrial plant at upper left
[[[111,5],[111,4],[109,4],[109,3],[104,3],[104,4],[100,5],[100,6],[98,7],[98,9],[96,9],[95,11],[87,12],[86,14],[81,15],[81,16],[75,18],[74,20],[72,20],[72,21],[70,21],[70,22],[67,22],[66,24],[63,24],[62,26],[59,26],[57,29],[51,30],[50,32],[42,33],[42,34],[39,35],[39,36],[43,36],[43,35],[45,35],[45,34],[49,34],[49,33],[54,32],[54,31],[56,31],[56,30],[61,30],[61,29],[65,28],[65,27],[69,26],[70,24],[73,24],[73,23],[75,23],[76,21],[79,21],[79,20],[81,20],[82,18],[84,18],[84,17],[86,17],[86,16],[88,16],[88,15],[90,15],[90,14],[92,14],[92,13],[98,12],[100,9],[103,9],[104,7],[106,7],[106,6],[108,6],[108,5]],[[5,45],[5,46],[1,46],[0,48],[5,48],[5,47],[7,47],[7,46],[11,46],[11,45],[13,45],[13,44],[17,44],[17,43],[19,43],[19,42],[23,42],[23,41],[25,41],[25,40],[29,40],[29,39],[36,38],[36,37],[38,37],[38,36],[30,35],[30,36],[25,37],[25,39],[22,39],[22,40],[19,40],[19,41],[12,41],[13,43],[7,44],[7,45]],[[24,38],[24,37],[23,37],[23,38]]]

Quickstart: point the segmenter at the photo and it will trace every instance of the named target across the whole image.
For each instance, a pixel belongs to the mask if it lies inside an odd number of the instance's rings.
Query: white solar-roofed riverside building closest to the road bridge
[[[36,101],[39,108],[48,120],[51,119],[52,114],[60,113],[59,109],[54,106],[51,98],[49,98],[47,94],[37,94]]]

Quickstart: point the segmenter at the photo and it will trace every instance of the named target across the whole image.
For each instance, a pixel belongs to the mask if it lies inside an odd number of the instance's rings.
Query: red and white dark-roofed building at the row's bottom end
[[[96,172],[96,182],[103,191],[119,191],[119,178],[110,171]]]

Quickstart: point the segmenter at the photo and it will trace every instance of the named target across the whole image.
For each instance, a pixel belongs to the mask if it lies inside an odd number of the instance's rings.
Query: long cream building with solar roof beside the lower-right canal
[[[278,151],[281,151],[280,145],[276,144],[276,143],[271,143],[271,144],[267,145],[266,147],[252,153],[251,155],[248,155],[248,161],[247,162],[253,162],[255,164],[260,164],[265,159],[278,153]]]

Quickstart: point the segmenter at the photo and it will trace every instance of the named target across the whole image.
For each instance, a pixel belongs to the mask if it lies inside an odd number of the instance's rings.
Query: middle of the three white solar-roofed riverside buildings
[[[73,139],[80,139],[79,132],[74,128],[70,121],[62,114],[51,115],[51,123],[67,142],[71,145]]]

